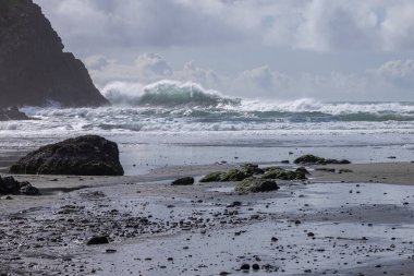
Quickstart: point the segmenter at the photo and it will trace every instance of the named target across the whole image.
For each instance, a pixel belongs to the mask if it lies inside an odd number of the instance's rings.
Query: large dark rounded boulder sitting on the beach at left
[[[14,164],[10,173],[123,176],[124,172],[115,143],[86,135],[42,146]]]

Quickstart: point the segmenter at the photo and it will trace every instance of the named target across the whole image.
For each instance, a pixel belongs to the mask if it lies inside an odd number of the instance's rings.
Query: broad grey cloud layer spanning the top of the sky
[[[411,0],[35,0],[77,47],[256,40],[315,51],[413,50]]]

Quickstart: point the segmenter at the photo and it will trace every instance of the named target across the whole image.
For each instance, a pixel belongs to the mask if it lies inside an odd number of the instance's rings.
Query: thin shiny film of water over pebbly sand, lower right
[[[226,192],[218,190],[221,194]],[[239,275],[243,263],[278,267],[278,275],[300,275],[307,269],[314,275],[356,275],[383,262],[406,261],[414,253],[413,187],[294,184],[271,194],[261,200],[261,195],[222,194],[200,204],[185,197],[145,199],[147,204],[139,215],[153,214],[160,219],[180,219],[192,214],[212,218],[211,214],[222,212],[235,199],[242,202],[241,207],[234,208],[238,217],[258,215],[260,218],[240,225],[219,225],[206,233],[194,229],[113,244],[118,249],[115,254],[96,255],[100,264],[108,264],[102,266],[102,275],[129,275],[130,272]],[[127,208],[125,201],[121,201],[113,204]],[[136,205],[143,199],[129,197],[127,201]],[[168,208],[168,204],[174,208]],[[308,232],[315,236],[308,237]],[[278,240],[271,241],[272,237]],[[387,267],[382,267],[377,273],[386,271]],[[269,272],[261,267],[254,275],[269,275]]]

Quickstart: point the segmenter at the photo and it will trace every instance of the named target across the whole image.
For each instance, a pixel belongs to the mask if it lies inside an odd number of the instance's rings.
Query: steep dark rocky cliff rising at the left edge
[[[0,107],[101,106],[107,99],[32,0],[0,0]]]

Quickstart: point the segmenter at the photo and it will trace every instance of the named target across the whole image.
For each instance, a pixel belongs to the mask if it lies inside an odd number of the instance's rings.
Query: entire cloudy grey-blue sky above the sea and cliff
[[[94,83],[414,100],[412,0],[34,0]]]

